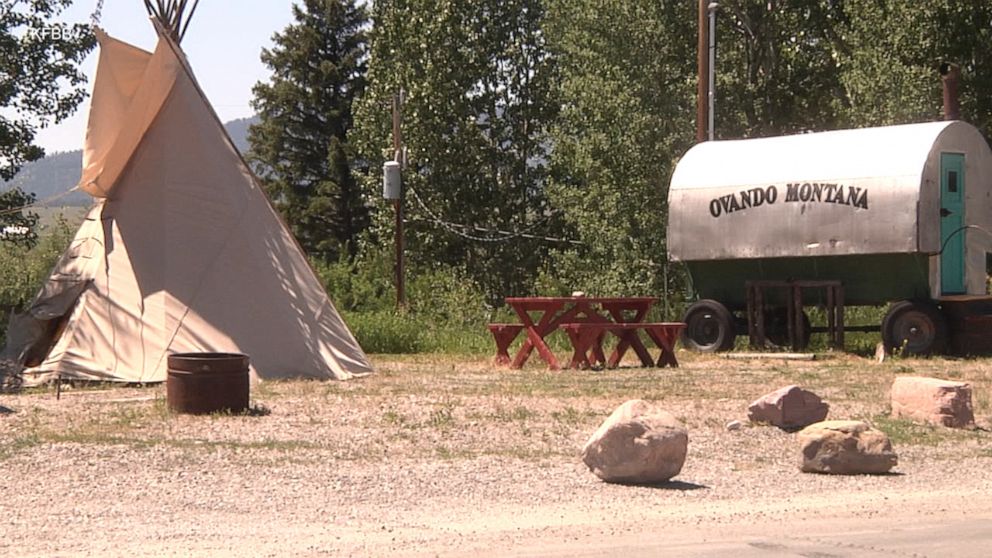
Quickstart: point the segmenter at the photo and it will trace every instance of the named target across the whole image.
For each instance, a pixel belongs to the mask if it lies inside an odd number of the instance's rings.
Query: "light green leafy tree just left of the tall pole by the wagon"
[[[556,253],[561,291],[664,290],[668,180],[694,130],[693,4],[548,2],[563,106],[551,198],[583,242]]]

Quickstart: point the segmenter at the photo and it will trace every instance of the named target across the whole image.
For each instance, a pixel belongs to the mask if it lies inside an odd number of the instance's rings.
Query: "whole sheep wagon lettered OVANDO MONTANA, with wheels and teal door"
[[[829,310],[841,345],[845,306],[892,303],[880,326],[847,329],[914,354],[992,346],[992,151],[967,123],[700,143],[668,203],[670,257],[700,298],[690,348],[745,331],[801,347],[804,303]]]

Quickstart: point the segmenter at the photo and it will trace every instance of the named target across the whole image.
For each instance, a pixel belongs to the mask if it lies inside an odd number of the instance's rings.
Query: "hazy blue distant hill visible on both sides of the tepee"
[[[257,121],[255,117],[240,118],[224,125],[234,145],[242,153],[248,149],[248,126]],[[0,191],[17,186],[25,192],[33,192],[39,200],[44,200],[75,186],[79,182],[82,168],[82,150],[52,153],[44,159],[24,165],[13,180],[0,182]],[[92,201],[93,198],[84,192],[73,192],[53,205],[86,206]]]

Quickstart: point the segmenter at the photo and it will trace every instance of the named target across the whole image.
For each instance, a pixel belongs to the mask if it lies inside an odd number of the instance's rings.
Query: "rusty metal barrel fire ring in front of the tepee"
[[[202,415],[248,410],[248,355],[169,355],[166,402],[177,413]]]

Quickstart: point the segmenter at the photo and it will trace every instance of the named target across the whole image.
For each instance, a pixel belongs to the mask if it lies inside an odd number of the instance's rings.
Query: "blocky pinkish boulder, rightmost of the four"
[[[975,425],[971,385],[938,378],[901,376],[892,382],[892,416],[952,428]]]

